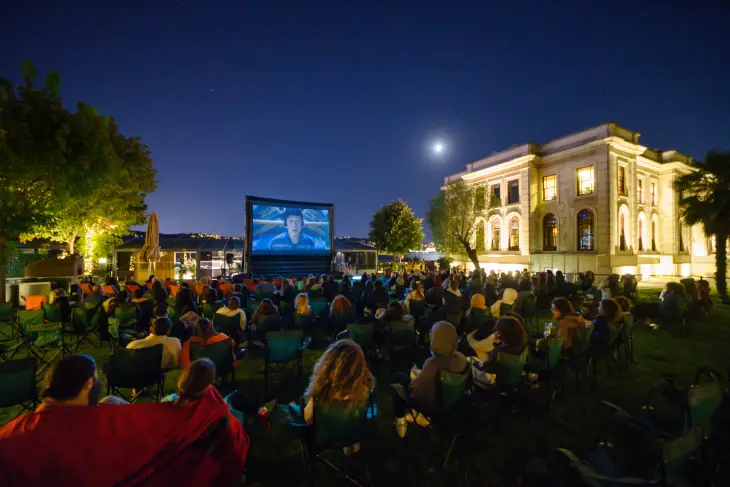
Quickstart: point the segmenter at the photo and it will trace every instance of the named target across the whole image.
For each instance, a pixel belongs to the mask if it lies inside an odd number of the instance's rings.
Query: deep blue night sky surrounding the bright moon
[[[730,148],[730,8],[669,3],[18,1],[0,75],[55,69],[70,106],[141,136],[163,232],[240,235],[253,194],[334,203],[359,236],[397,198],[424,216],[470,160],[606,120]]]

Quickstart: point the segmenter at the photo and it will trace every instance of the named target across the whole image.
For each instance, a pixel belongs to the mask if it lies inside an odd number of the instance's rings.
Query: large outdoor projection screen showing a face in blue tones
[[[330,255],[334,239],[331,204],[246,197],[250,255]]]

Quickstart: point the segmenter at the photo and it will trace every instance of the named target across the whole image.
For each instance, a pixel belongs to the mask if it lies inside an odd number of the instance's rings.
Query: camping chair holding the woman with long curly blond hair
[[[299,408],[301,413],[294,415],[291,414],[290,406],[280,406],[280,409],[283,408],[290,408],[287,421],[291,427],[299,430],[301,434],[302,462],[311,477],[312,485],[317,484],[316,464],[317,461],[321,461],[352,484],[362,487],[363,484],[325,458],[327,452],[341,450],[354,444],[359,444],[361,450],[352,458],[363,462],[366,477],[364,484],[372,485],[366,454],[374,428],[373,419],[377,415],[372,393],[365,406],[349,411],[345,409],[344,404],[337,402],[333,402],[326,407],[315,402],[311,424],[307,424],[302,417],[304,405]]]

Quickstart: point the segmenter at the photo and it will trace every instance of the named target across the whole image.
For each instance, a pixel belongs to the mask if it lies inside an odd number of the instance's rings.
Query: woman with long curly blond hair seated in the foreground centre
[[[375,380],[360,345],[352,340],[338,340],[314,364],[312,378],[304,394],[304,421],[314,421],[315,407],[342,411],[365,408],[374,387]],[[359,444],[345,447],[345,454],[359,449]]]

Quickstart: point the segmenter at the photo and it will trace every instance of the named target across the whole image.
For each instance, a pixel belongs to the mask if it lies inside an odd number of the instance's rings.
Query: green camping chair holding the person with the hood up
[[[414,405],[408,400],[407,393],[402,386],[395,384],[394,387],[396,393],[406,399],[408,407],[406,410],[406,416],[410,416],[409,420],[412,420],[414,425],[424,425],[424,422],[417,421],[419,415],[425,418],[425,427],[433,428],[439,436],[444,431],[448,432],[448,436],[451,437],[449,449],[444,456],[444,462],[442,468],[446,468],[446,464],[451,457],[451,452],[456,444],[456,440],[461,435],[459,430],[460,426],[468,426],[471,424],[468,418],[464,418],[462,414],[457,414],[455,409],[462,404],[465,392],[470,386],[470,367],[467,367],[466,371],[458,374],[442,370],[440,375],[441,393],[439,396],[438,410],[431,414],[424,414],[419,411]],[[452,435],[453,433],[453,435]]]

